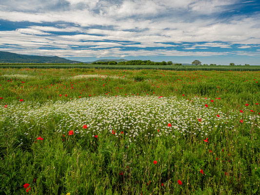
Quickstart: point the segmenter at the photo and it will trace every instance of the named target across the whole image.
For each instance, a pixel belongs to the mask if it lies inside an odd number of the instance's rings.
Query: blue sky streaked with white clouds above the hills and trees
[[[260,0],[0,0],[0,51],[260,65]]]

